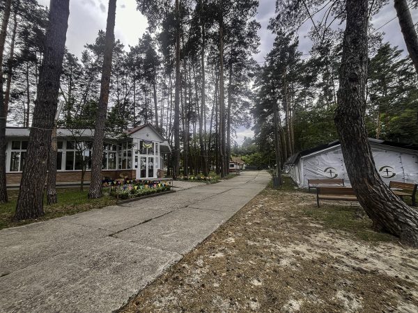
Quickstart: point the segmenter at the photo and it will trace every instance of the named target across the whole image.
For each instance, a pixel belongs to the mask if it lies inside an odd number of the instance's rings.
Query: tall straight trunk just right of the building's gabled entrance
[[[176,89],[174,93],[174,151],[173,151],[173,179],[177,179],[180,172],[180,3],[176,0]]]

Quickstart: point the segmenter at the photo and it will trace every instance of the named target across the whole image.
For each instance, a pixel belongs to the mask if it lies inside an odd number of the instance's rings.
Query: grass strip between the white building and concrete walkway
[[[0,230],[3,228],[20,226],[30,223],[39,222],[41,220],[50,220],[52,218],[59,218],[77,214],[92,209],[100,209],[109,205],[116,204],[116,199],[103,196],[100,199],[88,199],[88,191],[79,191],[79,188],[57,188],[58,203],[48,205],[46,204],[46,195],[44,196],[44,212],[45,215],[35,220],[22,220],[20,222],[13,222],[15,215],[17,195],[19,191],[8,191],[9,202],[0,204]]]

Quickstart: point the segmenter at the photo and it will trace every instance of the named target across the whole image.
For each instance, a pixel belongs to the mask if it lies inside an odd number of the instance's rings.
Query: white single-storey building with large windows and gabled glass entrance
[[[28,128],[6,128],[6,177],[8,186],[20,184]],[[82,167],[86,166],[86,182],[90,180],[91,143],[94,129],[57,129],[57,184],[77,183]],[[170,153],[168,142],[150,124],[130,129],[125,136],[104,138],[103,177],[116,179],[155,179],[158,170],[164,169],[164,154]]]

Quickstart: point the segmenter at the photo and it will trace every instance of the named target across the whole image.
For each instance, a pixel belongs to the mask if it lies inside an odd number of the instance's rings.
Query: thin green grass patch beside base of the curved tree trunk
[[[319,220],[327,228],[343,230],[355,234],[358,239],[371,242],[395,241],[396,237],[383,232],[375,232],[372,222],[361,207],[322,205],[320,208],[303,209],[304,214]]]

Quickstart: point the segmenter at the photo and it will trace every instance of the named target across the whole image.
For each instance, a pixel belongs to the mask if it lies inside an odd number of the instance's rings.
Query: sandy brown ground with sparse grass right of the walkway
[[[121,312],[418,312],[418,250],[353,202],[259,193]]]

